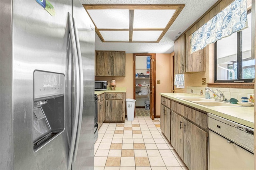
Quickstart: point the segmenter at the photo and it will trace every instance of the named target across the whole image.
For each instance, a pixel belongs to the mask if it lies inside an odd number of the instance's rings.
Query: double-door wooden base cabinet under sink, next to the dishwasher
[[[171,144],[188,169],[208,168],[207,115],[171,102]]]

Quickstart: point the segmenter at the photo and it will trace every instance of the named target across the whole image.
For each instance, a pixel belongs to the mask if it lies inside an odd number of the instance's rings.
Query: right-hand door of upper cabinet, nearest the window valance
[[[191,35],[185,34],[186,37],[186,72],[205,71],[205,48],[194,53],[190,53]]]

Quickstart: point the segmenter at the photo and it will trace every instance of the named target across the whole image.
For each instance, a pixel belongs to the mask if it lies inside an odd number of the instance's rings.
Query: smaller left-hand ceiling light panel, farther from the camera
[[[100,31],[106,42],[128,42],[129,31]]]

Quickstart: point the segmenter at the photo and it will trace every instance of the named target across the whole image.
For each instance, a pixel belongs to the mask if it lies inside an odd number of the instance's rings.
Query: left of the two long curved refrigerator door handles
[[[77,56],[77,49],[76,49],[76,41],[75,41],[75,34],[74,34],[74,27],[72,22],[72,17],[70,12],[68,12],[68,25],[69,25],[69,33],[71,38],[71,45],[72,45],[72,58],[74,59],[74,71],[76,76],[76,94],[80,94],[80,76],[79,76],[79,65],[78,65],[78,56]],[[74,126],[72,126],[72,135],[71,135],[71,142],[70,142],[70,149],[68,153],[68,170],[71,169],[73,155],[74,155],[74,148],[76,143],[76,134],[77,134],[77,127],[78,127],[78,116],[79,116],[79,95],[76,95],[76,103],[74,105]]]

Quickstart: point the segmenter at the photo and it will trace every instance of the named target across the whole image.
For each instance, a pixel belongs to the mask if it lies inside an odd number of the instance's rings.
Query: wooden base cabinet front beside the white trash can
[[[125,93],[105,93],[105,123],[124,123]]]

